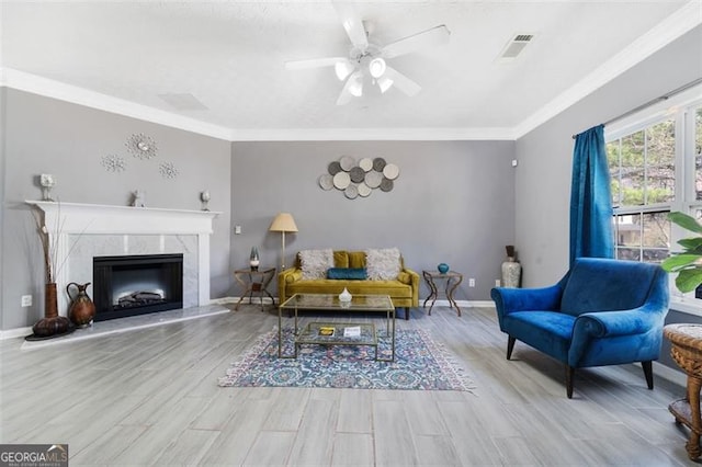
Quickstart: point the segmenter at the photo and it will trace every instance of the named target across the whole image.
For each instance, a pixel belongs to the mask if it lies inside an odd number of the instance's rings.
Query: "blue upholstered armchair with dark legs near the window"
[[[491,292],[507,360],[517,340],[565,363],[573,398],[575,368],[641,362],[648,389],[668,312],[668,275],[655,264],[579,258],[556,285]]]

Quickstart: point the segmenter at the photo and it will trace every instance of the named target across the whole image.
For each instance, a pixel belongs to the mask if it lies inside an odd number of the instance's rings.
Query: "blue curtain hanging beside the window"
[[[614,258],[604,125],[576,136],[570,190],[570,265],[580,257]]]

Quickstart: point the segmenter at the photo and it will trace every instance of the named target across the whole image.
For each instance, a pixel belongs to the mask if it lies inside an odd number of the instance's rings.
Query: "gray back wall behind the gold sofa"
[[[303,249],[398,247],[417,272],[440,262],[463,272],[456,299],[488,300],[514,239],[513,151],[511,141],[235,143],[231,224],[242,234],[231,237],[231,267],[248,265],[252,246],[262,264],[280,265],[281,236],[268,228],[290,212],[299,232],[286,235],[287,265]],[[394,190],[355,200],[322,191],[319,175],[343,155],[397,164]]]

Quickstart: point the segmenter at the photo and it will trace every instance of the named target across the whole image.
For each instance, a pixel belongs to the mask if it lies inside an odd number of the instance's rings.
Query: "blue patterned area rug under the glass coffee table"
[[[285,330],[283,342],[292,342]],[[292,354],[292,344],[284,354]],[[259,338],[219,378],[219,386],[285,386],[363,389],[418,389],[469,391],[465,369],[424,331],[397,331],[395,362],[376,362],[367,345],[299,346],[297,358],[278,357],[278,330]],[[378,349],[389,357],[389,345]]]

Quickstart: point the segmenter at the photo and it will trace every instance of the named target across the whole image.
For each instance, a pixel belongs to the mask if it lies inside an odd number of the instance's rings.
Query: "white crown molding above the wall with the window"
[[[700,24],[702,24],[700,0],[691,0],[517,125],[513,128],[514,137],[521,138],[526,135]]]

